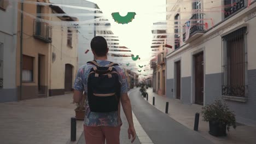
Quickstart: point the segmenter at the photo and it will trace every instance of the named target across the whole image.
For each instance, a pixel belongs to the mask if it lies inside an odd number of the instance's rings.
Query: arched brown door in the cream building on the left
[[[73,67],[71,64],[65,65],[65,92],[72,91],[72,70]]]

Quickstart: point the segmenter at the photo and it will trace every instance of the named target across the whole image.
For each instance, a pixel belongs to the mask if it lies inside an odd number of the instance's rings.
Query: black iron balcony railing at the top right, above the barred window
[[[231,3],[231,2],[232,2],[231,0],[226,0],[225,3]],[[224,13],[225,18],[236,13],[236,11],[242,9],[243,7],[245,7],[245,0],[237,0],[236,3],[230,4],[230,7],[225,8],[225,13]]]

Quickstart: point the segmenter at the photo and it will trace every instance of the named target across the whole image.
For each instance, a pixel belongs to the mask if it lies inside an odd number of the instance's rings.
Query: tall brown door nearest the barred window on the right
[[[195,55],[195,103],[203,105],[203,52]]]

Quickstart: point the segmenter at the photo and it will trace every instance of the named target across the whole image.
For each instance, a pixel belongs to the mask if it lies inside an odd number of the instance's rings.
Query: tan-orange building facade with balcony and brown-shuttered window
[[[39,2],[49,3],[43,0]],[[48,5],[19,3],[18,9],[22,10],[22,13],[21,11],[18,13],[19,33],[16,55],[16,84],[20,93],[19,99],[47,97],[52,27],[42,21],[50,20],[49,17],[33,14],[51,14],[51,8]]]

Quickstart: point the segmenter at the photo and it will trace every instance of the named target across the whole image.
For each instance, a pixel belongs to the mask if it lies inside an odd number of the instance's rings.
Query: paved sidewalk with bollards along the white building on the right
[[[256,137],[256,127],[247,126],[239,124],[237,125],[236,130],[230,128],[228,136],[226,137],[215,137],[208,134],[209,126],[207,122],[202,121],[201,108],[200,105],[188,105],[183,104],[180,100],[169,99],[162,97],[156,93],[153,93],[152,88],[147,89],[148,92],[148,103],[153,104],[153,97],[155,97],[155,107],[156,109],[165,113],[166,102],[169,102],[168,107],[168,116],[176,120],[177,122],[185,125],[189,129],[194,129],[194,119],[195,113],[200,113],[199,120],[199,134],[205,137],[208,140],[211,140],[213,143],[255,143]],[[144,98],[146,100],[146,98]]]

